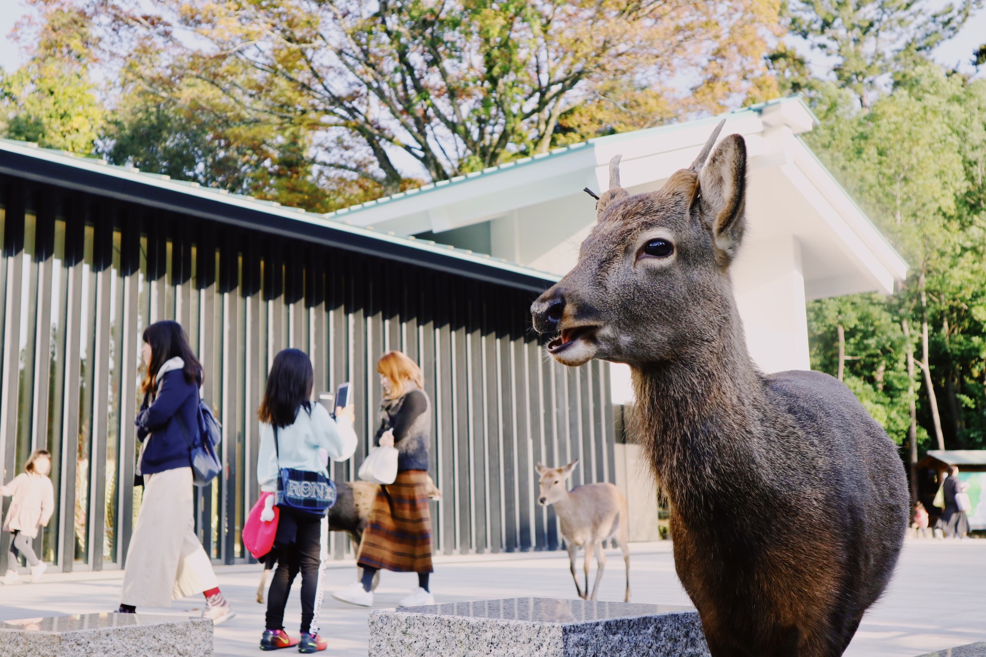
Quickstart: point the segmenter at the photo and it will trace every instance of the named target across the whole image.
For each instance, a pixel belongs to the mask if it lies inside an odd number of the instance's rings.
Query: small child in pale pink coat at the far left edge
[[[14,478],[7,486],[0,487],[4,496],[14,495],[7,509],[3,531],[13,534],[10,553],[7,556],[7,574],[4,584],[13,584],[20,579],[17,574],[17,560],[20,555],[31,566],[31,580],[37,581],[47,567],[35,555],[31,542],[37,538],[40,527],[47,527],[51,512],[55,508],[55,494],[48,473],[51,472],[51,454],[43,449],[35,450],[24,466],[24,472]]]

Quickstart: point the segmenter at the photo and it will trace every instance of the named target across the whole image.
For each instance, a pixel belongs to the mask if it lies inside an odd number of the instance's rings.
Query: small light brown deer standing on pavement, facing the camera
[[[540,477],[540,494],[537,501],[542,506],[553,504],[558,524],[561,525],[561,535],[568,549],[568,563],[575,580],[575,590],[583,600],[596,600],[599,593],[599,580],[602,571],[606,569],[605,542],[616,540],[616,545],[623,551],[623,561],[626,563],[626,592],[623,601],[630,602],[630,545],[628,516],[626,512],[626,497],[612,484],[584,484],[571,491],[565,488],[565,480],[572,476],[572,471],[579,464],[578,459],[561,468],[546,468],[540,463],[534,466]],[[579,584],[579,576],[575,574],[575,560],[579,556],[579,548],[586,549],[585,571],[586,590]],[[596,582],[593,592],[589,592],[589,569],[593,553],[599,550],[596,557]]]

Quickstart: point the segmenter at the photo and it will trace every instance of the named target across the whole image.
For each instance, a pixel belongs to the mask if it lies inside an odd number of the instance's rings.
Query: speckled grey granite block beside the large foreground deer
[[[709,657],[689,607],[511,598],[378,610],[371,657]]]

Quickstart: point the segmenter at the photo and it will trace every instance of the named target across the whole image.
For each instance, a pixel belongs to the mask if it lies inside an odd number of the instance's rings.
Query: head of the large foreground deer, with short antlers
[[[669,361],[715,349],[732,328],[746,148],[730,135],[709,158],[724,123],[657,192],[631,196],[613,158],[578,264],[530,306],[534,328],[558,334],[547,347],[556,361]]]

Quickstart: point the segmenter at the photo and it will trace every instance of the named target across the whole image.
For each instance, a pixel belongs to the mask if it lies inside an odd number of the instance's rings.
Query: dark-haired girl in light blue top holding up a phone
[[[280,500],[278,479],[282,468],[321,473],[328,477],[328,459],[344,461],[356,451],[353,407],[335,409],[335,421],[321,404],[312,403],[315,373],[305,352],[285,349],[274,357],[267,388],[257,416],[260,420],[260,449],[256,478],[260,491],[277,493],[277,534],[271,554],[264,563],[277,561],[267,592],[266,628],[260,637],[261,650],[297,645],[299,652],[324,650],[325,639],[311,633],[315,614],[318,568],[321,553],[321,520],[324,512],[305,511]],[[267,499],[273,500],[274,496]],[[271,502],[272,504],[273,502]],[[262,520],[273,520],[268,506]],[[301,638],[284,630],[284,607],[291,584],[302,574]]]

